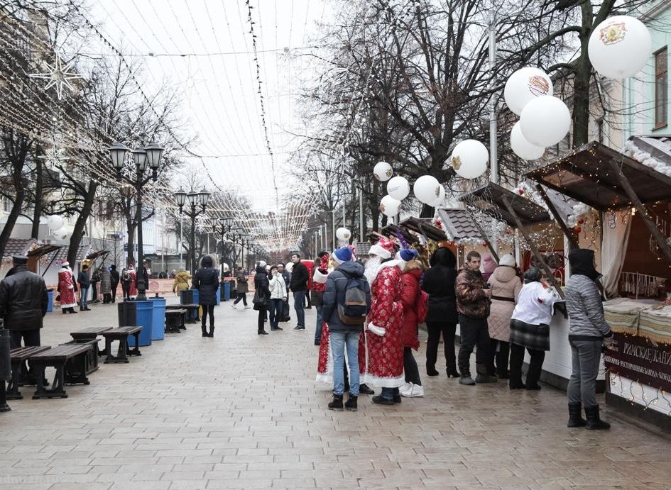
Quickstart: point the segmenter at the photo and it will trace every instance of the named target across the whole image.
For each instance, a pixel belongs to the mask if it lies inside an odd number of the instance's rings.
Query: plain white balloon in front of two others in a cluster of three
[[[536,146],[552,146],[564,139],[571,127],[571,113],[563,101],[542,96],[527,104],[520,117],[524,138]]]

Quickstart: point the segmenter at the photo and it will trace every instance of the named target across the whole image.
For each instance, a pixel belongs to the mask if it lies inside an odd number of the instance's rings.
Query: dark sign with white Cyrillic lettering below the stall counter
[[[606,369],[655,389],[671,391],[671,345],[613,333],[617,345],[604,354]]]

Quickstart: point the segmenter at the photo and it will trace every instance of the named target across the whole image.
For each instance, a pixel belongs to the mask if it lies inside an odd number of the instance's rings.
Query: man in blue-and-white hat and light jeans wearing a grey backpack
[[[326,279],[322,296],[322,315],[329,326],[333,356],[333,400],[330,410],[356,411],[359,397],[359,335],[371,308],[371,289],[364,277],[364,266],[352,261],[349,247],[333,252],[335,270]],[[349,397],[342,403],[345,379],[345,348],[349,360]]]

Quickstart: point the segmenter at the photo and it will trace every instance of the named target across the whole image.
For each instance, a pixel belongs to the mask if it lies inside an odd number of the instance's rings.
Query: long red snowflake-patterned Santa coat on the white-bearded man
[[[368,369],[366,383],[383,388],[398,388],[403,377],[403,280],[401,260],[384,262],[371,284],[369,326],[384,328],[383,336],[366,332]]]

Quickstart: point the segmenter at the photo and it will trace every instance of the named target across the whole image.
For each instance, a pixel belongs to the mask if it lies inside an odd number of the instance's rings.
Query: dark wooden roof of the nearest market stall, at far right
[[[671,199],[671,177],[596,141],[532,170],[526,177],[601,211],[632,206],[613,174],[611,160],[617,162],[644,204]]]

